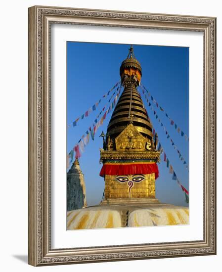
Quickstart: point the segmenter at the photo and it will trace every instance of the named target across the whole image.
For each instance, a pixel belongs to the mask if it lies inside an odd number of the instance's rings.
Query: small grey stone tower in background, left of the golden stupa
[[[87,206],[84,175],[76,159],[67,174],[67,211],[82,209]]]

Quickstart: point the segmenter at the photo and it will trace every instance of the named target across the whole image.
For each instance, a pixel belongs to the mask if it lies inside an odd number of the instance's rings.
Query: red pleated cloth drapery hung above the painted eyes
[[[156,163],[138,163],[138,164],[114,164],[105,163],[100,171],[100,176],[105,175],[138,175],[155,173],[155,179],[159,177],[159,169]]]

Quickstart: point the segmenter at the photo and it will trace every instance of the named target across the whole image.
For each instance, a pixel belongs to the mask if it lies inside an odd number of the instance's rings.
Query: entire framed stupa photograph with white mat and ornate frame
[[[29,264],[216,254],[216,18],[29,8]]]

